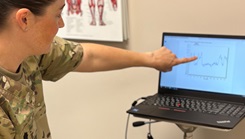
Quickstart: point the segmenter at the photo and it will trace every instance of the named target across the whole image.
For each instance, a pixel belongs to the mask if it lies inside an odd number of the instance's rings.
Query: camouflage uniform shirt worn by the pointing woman
[[[78,46],[55,37],[49,54],[27,58],[18,73],[0,68],[0,139],[51,139],[42,80],[74,70],[83,56]]]

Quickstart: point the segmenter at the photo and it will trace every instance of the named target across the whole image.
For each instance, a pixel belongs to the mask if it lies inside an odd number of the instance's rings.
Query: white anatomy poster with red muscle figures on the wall
[[[66,0],[65,27],[58,36],[67,39],[123,41],[121,0]]]

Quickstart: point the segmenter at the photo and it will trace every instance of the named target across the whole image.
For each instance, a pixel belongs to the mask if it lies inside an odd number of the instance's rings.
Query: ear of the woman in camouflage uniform
[[[23,31],[27,31],[28,30],[28,26],[31,23],[30,21],[31,21],[32,15],[33,15],[32,12],[29,9],[26,9],[26,8],[19,9],[16,12],[16,15],[15,15],[16,21],[17,21],[19,27]]]

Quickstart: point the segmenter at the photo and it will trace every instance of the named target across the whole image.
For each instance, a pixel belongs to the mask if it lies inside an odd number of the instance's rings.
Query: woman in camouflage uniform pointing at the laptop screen
[[[0,0],[0,139],[50,139],[42,80],[70,71],[127,67],[170,71],[178,59],[167,48],[137,53],[55,37],[64,26],[65,0]]]

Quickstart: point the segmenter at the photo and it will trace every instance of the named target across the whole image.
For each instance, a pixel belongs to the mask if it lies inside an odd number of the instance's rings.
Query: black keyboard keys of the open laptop
[[[243,105],[179,96],[149,97],[148,101],[144,101],[144,104],[154,105],[162,109],[188,110],[233,117],[241,117],[245,113],[245,107]]]

